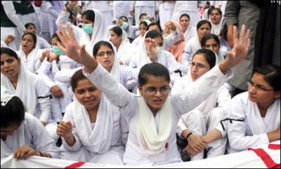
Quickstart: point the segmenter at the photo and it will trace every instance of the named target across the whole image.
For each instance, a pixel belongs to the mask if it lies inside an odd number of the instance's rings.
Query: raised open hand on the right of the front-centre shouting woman
[[[242,25],[238,39],[237,27],[233,27],[233,49],[228,51],[228,57],[219,64],[223,74],[226,74],[229,69],[238,65],[247,56],[249,46],[251,44],[249,35],[249,29],[246,32],[246,26]]]

